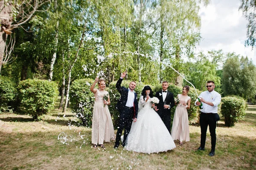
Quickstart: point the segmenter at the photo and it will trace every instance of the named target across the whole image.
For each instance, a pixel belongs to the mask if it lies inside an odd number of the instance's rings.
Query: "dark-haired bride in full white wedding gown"
[[[139,101],[137,121],[132,123],[125,149],[139,153],[159,153],[174,149],[175,143],[162,119],[151,108],[153,92],[145,86]],[[154,106],[154,105],[153,105]]]

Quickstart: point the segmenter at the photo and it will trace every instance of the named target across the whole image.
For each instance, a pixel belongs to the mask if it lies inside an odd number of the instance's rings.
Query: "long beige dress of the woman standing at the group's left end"
[[[100,91],[94,94],[95,103],[93,105],[93,122],[92,122],[92,144],[103,144],[103,141],[109,142],[115,139],[113,122],[108,109],[108,105],[103,103],[103,95],[107,91]]]

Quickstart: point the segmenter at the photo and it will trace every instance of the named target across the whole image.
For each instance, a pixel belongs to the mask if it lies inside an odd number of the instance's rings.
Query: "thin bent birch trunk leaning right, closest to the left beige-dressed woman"
[[[77,51],[76,51],[75,60],[74,60],[74,62],[70,65],[70,67],[69,67],[69,69],[68,69],[66,100],[65,100],[65,104],[64,104],[64,108],[63,108],[63,111],[62,111],[62,112],[66,112],[66,110],[67,110],[67,104],[68,104],[68,102],[69,102],[69,91],[70,91],[71,71],[72,71],[73,66],[75,65],[77,59],[79,58],[79,51],[80,51],[81,46],[82,46],[82,44],[83,44],[83,42],[84,42],[85,29],[86,29],[86,24],[84,24],[83,33],[82,33],[82,36],[81,36],[81,40],[80,40],[78,49],[77,49]]]

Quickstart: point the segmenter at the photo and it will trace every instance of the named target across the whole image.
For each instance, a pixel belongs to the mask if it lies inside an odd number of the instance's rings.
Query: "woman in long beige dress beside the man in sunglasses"
[[[179,144],[183,145],[183,140],[189,141],[189,117],[187,109],[190,108],[191,98],[187,95],[189,86],[183,86],[182,94],[178,94],[180,99],[175,109],[171,135],[173,140],[179,140]]]

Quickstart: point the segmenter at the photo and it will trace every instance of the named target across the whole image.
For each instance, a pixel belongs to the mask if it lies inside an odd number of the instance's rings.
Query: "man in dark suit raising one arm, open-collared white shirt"
[[[138,101],[137,93],[134,92],[136,82],[131,81],[128,89],[126,89],[124,86],[121,87],[121,83],[125,77],[125,74],[126,72],[123,72],[119,80],[116,82],[116,89],[119,91],[121,96],[116,104],[116,109],[119,111],[119,124],[116,132],[116,143],[114,148],[119,147],[123,129],[125,129],[125,132],[122,146],[125,146],[126,138],[131,130],[131,124],[133,121],[137,121]]]

